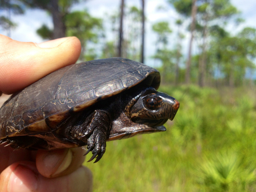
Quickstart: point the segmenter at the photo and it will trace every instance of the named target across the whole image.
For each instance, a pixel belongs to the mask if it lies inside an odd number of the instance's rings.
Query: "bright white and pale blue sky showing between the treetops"
[[[139,0],[125,1],[127,6],[141,7]],[[239,31],[244,27],[256,28],[256,1],[255,0],[231,0],[232,5],[241,11],[242,18],[245,22],[237,29],[230,26],[230,32]],[[166,11],[157,9],[159,6],[166,8]],[[113,13],[120,7],[120,0],[88,0],[87,2],[75,5],[72,10],[83,10],[88,9],[91,15],[100,18],[107,18],[106,15]],[[0,16],[6,14],[0,12]],[[152,32],[151,28],[154,23],[160,21],[168,21],[170,28],[175,33],[176,27],[174,25],[175,20],[178,18],[174,8],[166,3],[165,0],[145,0],[145,14],[147,17],[146,29],[145,29],[145,62],[147,65],[153,65],[151,56],[155,52],[154,44],[156,42],[156,35]],[[53,27],[52,20],[49,14],[45,11],[34,9],[27,10],[24,15],[11,15],[11,19],[18,25],[14,30],[11,31],[11,38],[18,41],[32,41],[42,42],[44,41],[36,34],[42,24],[47,24],[49,27]],[[108,27],[110,22],[104,19],[104,25]],[[7,35],[6,31],[0,29],[0,34]],[[189,33],[184,31],[185,39],[183,41],[183,52],[187,53]],[[107,34],[107,37],[110,35]],[[117,37],[118,38],[118,37]],[[170,44],[175,42],[175,35],[170,37]],[[174,45],[174,44],[173,44]],[[196,50],[194,50],[194,53]]]

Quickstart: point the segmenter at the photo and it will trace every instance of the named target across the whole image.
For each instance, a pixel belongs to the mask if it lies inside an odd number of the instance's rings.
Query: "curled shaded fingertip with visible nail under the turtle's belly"
[[[84,153],[86,150],[82,147],[53,151],[38,150],[36,167],[42,176],[48,178],[68,175],[81,166],[85,158]]]

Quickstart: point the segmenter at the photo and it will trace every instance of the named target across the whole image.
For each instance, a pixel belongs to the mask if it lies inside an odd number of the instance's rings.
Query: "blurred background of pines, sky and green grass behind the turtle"
[[[256,4],[250,3],[2,0],[0,33],[37,42],[77,36],[80,61],[142,61],[160,71],[160,90],[180,101],[166,133],[109,142],[103,160],[85,163],[95,191],[255,191]]]

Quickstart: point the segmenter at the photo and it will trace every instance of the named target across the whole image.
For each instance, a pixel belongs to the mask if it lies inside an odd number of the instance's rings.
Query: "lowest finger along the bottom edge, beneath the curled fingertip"
[[[70,175],[58,178],[41,176],[33,162],[14,163],[0,175],[0,191],[92,191],[92,173],[80,166]]]

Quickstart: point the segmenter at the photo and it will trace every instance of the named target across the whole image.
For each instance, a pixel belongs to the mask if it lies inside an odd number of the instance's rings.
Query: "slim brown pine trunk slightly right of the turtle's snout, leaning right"
[[[191,12],[191,17],[192,17],[191,37],[190,37],[190,41],[189,41],[188,58],[187,58],[187,62],[186,62],[186,75],[185,75],[186,83],[190,83],[191,52],[192,52],[192,45],[193,45],[193,39],[194,39],[194,31],[196,28],[196,15],[197,15],[196,3],[197,3],[197,0],[193,0],[192,12]]]

